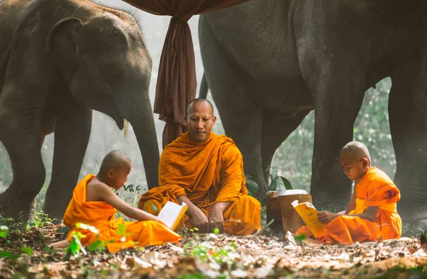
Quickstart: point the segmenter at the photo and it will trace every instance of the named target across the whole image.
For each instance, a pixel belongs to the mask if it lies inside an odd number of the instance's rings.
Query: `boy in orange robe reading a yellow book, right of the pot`
[[[325,235],[319,240],[347,245],[380,238],[399,239],[402,221],[396,202],[400,192],[394,182],[386,173],[371,166],[369,151],[363,143],[347,143],[339,161],[344,173],[354,180],[354,192],[345,212],[319,212],[319,221],[327,224]],[[296,234],[311,236],[307,226]]]

